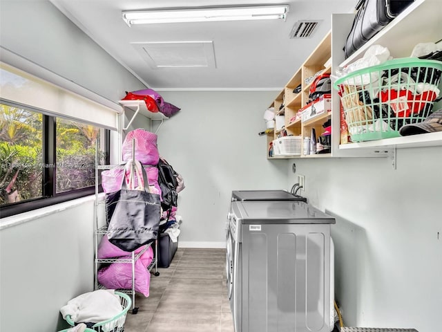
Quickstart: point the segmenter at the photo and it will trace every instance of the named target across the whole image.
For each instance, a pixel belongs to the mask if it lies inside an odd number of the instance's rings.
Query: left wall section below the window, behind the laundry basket
[[[77,204],[0,231],[0,331],[59,331],[61,306],[93,290],[93,199]]]

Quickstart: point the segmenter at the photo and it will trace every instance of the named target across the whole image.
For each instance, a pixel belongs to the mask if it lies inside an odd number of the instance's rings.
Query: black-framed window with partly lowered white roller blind
[[[2,52],[32,73],[0,62],[0,218],[93,194],[121,107]]]

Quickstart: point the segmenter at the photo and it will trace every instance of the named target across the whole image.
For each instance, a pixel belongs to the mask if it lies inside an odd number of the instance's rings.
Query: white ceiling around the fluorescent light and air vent
[[[185,6],[180,0],[50,1],[144,84],[165,90],[280,89],[329,31],[331,14],[352,12],[357,0],[188,0]],[[276,3],[289,4],[286,21],[146,24],[130,28],[122,20],[122,10]],[[305,19],[323,21],[311,38],[290,39],[296,21]],[[158,56],[162,46],[173,50],[171,59]],[[188,64],[187,59],[200,66],[167,67],[172,62]]]

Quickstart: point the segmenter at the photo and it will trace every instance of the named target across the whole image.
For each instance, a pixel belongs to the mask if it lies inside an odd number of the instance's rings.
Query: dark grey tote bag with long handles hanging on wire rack
[[[129,187],[135,187],[134,174],[137,176],[137,187],[127,188],[125,170],[122,189],[119,191],[107,234],[109,242],[124,251],[131,252],[157,239],[161,204],[160,195],[149,192],[147,174],[141,163],[130,161],[126,167],[131,167]]]

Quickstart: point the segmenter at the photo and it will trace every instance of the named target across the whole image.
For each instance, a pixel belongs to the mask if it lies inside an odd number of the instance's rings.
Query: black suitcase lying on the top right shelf
[[[356,5],[352,30],[345,42],[345,58],[352,55],[389,24],[414,0],[360,0]]]

